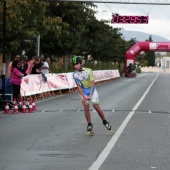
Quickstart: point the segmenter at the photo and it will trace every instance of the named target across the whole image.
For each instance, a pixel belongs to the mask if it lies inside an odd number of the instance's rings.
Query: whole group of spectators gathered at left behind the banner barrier
[[[50,73],[50,58],[43,54],[33,56],[30,59],[23,55],[14,56],[8,65],[7,77],[10,79],[13,91],[13,100],[19,101],[22,77],[29,74],[41,74],[44,82],[47,81],[45,74]]]

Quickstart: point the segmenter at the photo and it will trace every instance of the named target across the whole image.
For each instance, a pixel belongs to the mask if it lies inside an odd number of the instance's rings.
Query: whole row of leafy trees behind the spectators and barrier
[[[113,29],[108,21],[98,21],[92,7],[96,5],[52,0],[8,0],[7,50],[21,53],[24,49],[35,54],[35,38],[40,35],[41,52],[62,56],[65,62],[73,54],[83,53],[86,57],[90,54],[93,59],[104,62],[123,61],[132,42],[126,42],[121,37],[121,28]],[[1,3],[1,14],[2,9]],[[2,30],[1,22],[0,29]],[[2,40],[2,31],[0,39]],[[1,45],[0,49],[2,50]]]

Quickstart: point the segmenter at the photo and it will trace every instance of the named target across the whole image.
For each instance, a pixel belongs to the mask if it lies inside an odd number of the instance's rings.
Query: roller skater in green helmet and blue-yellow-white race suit
[[[77,89],[82,97],[82,104],[84,106],[84,114],[87,120],[87,131],[89,136],[93,136],[93,125],[91,123],[90,106],[91,101],[94,109],[97,111],[98,115],[103,121],[104,126],[113,133],[111,125],[106,121],[105,115],[99,106],[99,97],[97,93],[96,86],[94,84],[93,72],[90,68],[85,68],[82,66],[81,57],[74,56],[72,62],[75,68],[73,73],[73,78],[76,82]]]

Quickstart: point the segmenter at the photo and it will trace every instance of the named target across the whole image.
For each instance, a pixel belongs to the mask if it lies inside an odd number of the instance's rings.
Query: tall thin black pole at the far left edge
[[[5,100],[5,55],[6,55],[6,0],[3,0],[3,58],[2,58],[2,99]]]

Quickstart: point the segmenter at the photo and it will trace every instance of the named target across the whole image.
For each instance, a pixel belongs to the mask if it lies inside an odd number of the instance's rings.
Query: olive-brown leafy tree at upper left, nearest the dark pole
[[[6,11],[6,45],[9,52],[35,50],[35,37],[46,35],[53,30],[59,34],[62,23],[60,17],[49,17],[48,1],[44,0],[8,0]],[[0,21],[2,21],[3,4],[0,3]],[[2,40],[2,22],[0,22],[0,40]],[[2,45],[0,45],[2,50]]]

